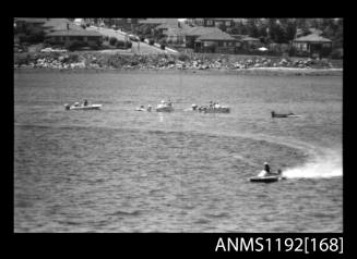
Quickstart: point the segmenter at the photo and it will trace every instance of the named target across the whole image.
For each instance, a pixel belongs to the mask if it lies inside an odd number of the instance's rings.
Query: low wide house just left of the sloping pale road
[[[74,42],[82,46],[98,47],[103,42],[103,35],[96,30],[62,29],[47,34],[46,39],[52,45],[61,45],[63,47],[69,47]]]

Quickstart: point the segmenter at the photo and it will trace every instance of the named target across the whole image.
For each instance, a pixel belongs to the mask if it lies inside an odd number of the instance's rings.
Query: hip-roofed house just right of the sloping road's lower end
[[[222,30],[202,35],[195,39],[197,52],[235,53],[236,39]]]

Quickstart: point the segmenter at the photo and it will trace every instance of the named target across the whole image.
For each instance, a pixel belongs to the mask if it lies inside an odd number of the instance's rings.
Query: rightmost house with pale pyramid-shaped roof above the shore
[[[293,47],[298,52],[310,55],[328,55],[332,51],[332,40],[317,34],[310,34],[293,40]]]

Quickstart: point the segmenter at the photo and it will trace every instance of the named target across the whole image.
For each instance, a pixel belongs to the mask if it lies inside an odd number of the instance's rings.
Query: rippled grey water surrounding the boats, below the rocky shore
[[[341,76],[15,72],[14,231],[342,232],[342,101]],[[264,161],[287,180],[250,183]]]

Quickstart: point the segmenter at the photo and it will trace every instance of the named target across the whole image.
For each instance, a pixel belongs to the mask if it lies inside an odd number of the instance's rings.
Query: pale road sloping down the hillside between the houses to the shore
[[[126,33],[121,30],[114,30],[112,28],[104,28],[104,27],[96,27],[96,26],[90,26],[87,29],[96,30],[103,34],[104,36],[109,36],[109,37],[116,37],[119,40],[126,40]],[[160,49],[156,46],[148,45],[146,42],[132,42],[132,52],[133,53],[141,53],[141,54],[151,54],[151,53],[176,53],[175,50],[170,49]]]

